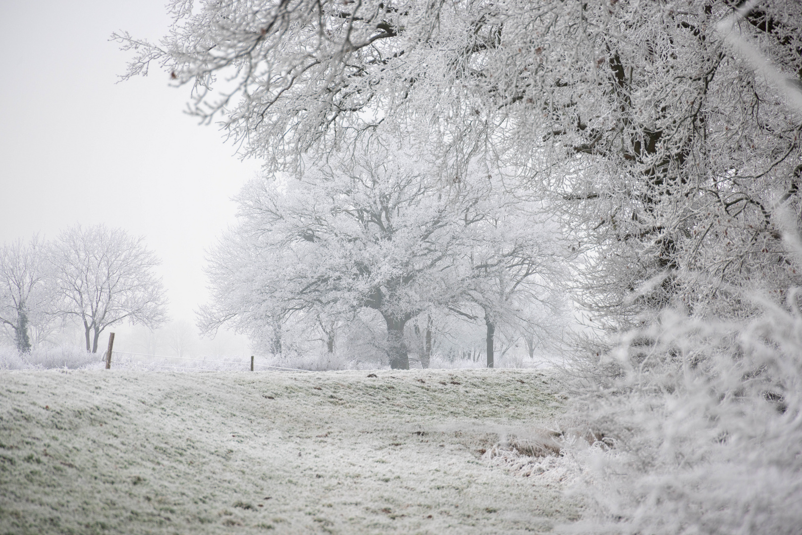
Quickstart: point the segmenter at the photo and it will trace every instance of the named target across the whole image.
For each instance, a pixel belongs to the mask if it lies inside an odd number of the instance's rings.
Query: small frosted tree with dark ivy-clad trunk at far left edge
[[[44,241],[13,241],[0,248],[0,323],[21,352],[30,351],[31,328],[47,331],[53,321],[54,293]]]

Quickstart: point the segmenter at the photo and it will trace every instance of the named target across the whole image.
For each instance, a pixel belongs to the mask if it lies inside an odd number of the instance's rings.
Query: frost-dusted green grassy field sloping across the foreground
[[[370,373],[2,372],[0,533],[540,533],[577,518],[554,478],[485,452],[561,414],[546,375]]]

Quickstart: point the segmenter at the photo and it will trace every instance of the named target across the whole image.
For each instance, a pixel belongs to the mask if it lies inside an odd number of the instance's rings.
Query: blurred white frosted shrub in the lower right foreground
[[[799,295],[753,298],[751,320],[663,314],[602,359],[621,375],[583,399],[614,444],[585,452],[587,532],[800,533]]]

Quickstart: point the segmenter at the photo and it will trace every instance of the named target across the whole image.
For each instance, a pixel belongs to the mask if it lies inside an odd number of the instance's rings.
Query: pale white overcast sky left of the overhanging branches
[[[111,32],[156,41],[166,13],[164,0],[0,0],[0,242],[75,223],[144,236],[172,318],[194,323],[204,249],[260,164],[184,115],[188,90],[163,72],[115,83],[128,55]]]

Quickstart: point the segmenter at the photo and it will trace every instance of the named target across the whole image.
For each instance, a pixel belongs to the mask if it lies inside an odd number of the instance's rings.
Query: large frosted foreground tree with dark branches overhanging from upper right
[[[798,87],[802,5],[741,6],[176,0],[160,44],[119,39],[138,51],[128,75],[164,67],[268,168],[382,132],[425,146],[443,180],[475,154],[515,165],[563,201],[588,253],[577,294],[619,328],[677,303],[749,314],[727,284],[799,282],[775,211],[796,207],[799,117],[727,39]]]

